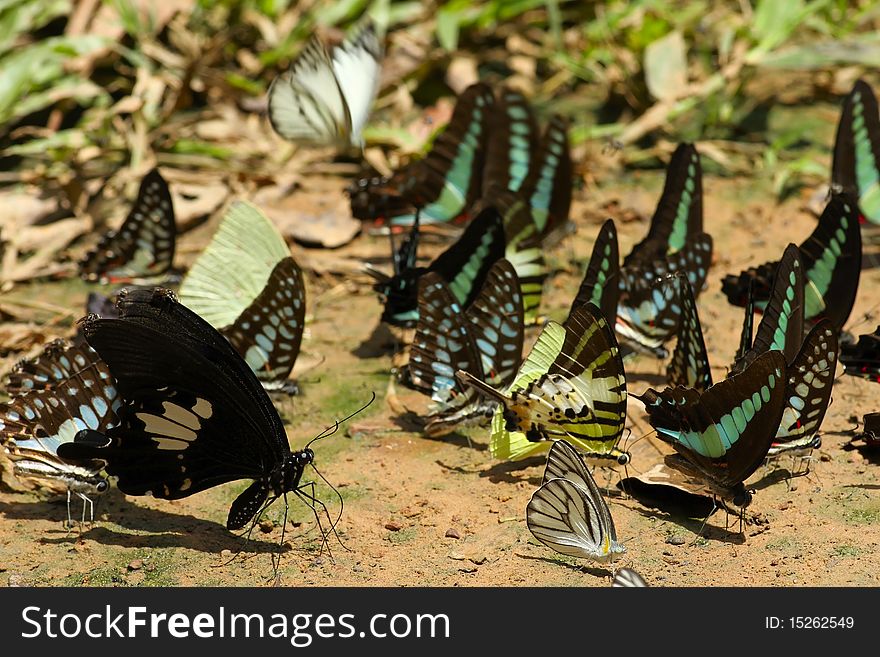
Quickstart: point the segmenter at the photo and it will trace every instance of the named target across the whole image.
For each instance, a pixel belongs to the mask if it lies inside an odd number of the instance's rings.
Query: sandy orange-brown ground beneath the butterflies
[[[710,359],[718,367],[716,378],[731,361],[741,321],[741,310],[721,295],[722,276],[778,258],[789,240],[805,238],[815,224],[815,216],[806,210],[810,190],[777,206],[769,185],[758,178],[706,176],[704,181],[705,227],[715,239],[715,262],[698,306]],[[549,254],[557,269],[545,292],[543,308],[550,317],[564,316],[577,289],[606,215],[601,208],[614,206],[621,251],[626,253],[645,234],[662,182],[661,171],[635,172],[576,193],[571,216],[577,233]],[[183,251],[193,253],[212,226],[185,236]],[[387,258],[387,239],[361,237],[329,253],[306,253],[299,247],[294,253],[316,262]],[[880,273],[870,266],[872,261],[865,259],[847,327],[856,334],[870,332],[878,323]],[[387,403],[393,341],[377,329],[380,305],[366,279],[324,274],[310,276],[308,283],[313,320],[303,349],[324,360],[301,377],[302,395],[280,404],[291,444],[303,444],[334,417],[357,408],[371,390],[378,398],[344,430],[316,446],[316,464],[344,499],[338,525],[344,547],[331,537],[330,551],[322,551],[311,512],[292,498],[278,581],[290,586],[608,585],[610,571],[557,555],[526,528],[524,509],[540,481],[541,458],[498,463],[489,455],[487,430],[431,440],[396,421]],[[79,283],[47,283],[17,288],[10,298],[51,299],[80,308],[87,291]],[[59,325],[50,333],[68,330]],[[16,357],[10,354],[5,364]],[[641,357],[628,363],[628,386],[641,392],[660,385],[664,372],[665,363]],[[417,393],[400,387],[398,393],[400,403],[424,408],[425,399]],[[877,585],[880,457],[847,447],[855,426],[851,418],[876,410],[880,386],[839,377],[811,473],[787,480],[788,468],[800,465],[789,461],[782,461],[781,468],[759,470],[750,482],[758,489],[750,508],[758,521],[748,524],[743,535],[733,523],[725,530],[725,514],[719,512],[695,540],[699,509],[669,500],[649,505],[627,495],[611,497],[618,534],[628,548],[619,564],[634,567],[656,586]],[[630,400],[629,415],[634,441],[648,433],[635,399]],[[660,460],[650,437],[631,448],[629,474]],[[612,474],[609,481],[613,485],[618,479]],[[229,503],[245,486],[229,484],[176,502],[126,497],[114,489],[100,500],[94,524],[81,533],[64,529],[63,497],[41,490],[2,492],[0,583],[272,582],[270,554],[279,551],[283,505],[268,512],[249,542],[224,528]],[[338,500],[326,487],[319,492],[335,514]]]

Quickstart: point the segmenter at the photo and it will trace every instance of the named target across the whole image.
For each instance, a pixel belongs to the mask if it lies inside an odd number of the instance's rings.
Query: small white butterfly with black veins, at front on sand
[[[544,545],[570,557],[607,563],[626,552],[593,476],[564,440],[550,448],[541,487],[526,507],[526,523]]]

